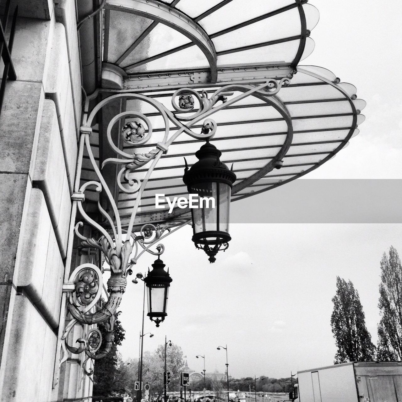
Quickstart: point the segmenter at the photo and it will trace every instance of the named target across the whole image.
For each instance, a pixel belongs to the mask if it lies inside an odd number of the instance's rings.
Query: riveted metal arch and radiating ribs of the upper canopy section
[[[231,70],[237,70],[237,78],[231,77],[233,80],[258,80],[262,78],[275,78],[281,79],[284,77],[289,77],[294,72],[295,67],[299,63],[302,54],[306,46],[306,38],[310,36],[310,31],[307,29],[306,15],[304,12],[303,5],[307,3],[307,0],[294,0],[292,2],[289,0],[290,4],[279,7],[275,10],[265,12],[262,15],[254,16],[246,21],[240,23],[234,23],[230,27],[226,27],[217,32],[208,34],[205,29],[200,25],[204,18],[211,16],[214,12],[217,12],[222,7],[228,5],[232,0],[225,0],[215,4],[215,6],[205,10],[200,15],[196,17],[189,17],[184,12],[180,11],[176,6],[180,6],[180,0],[174,0],[171,4],[166,4],[165,2],[158,0],[106,0],[105,2],[105,51],[104,51],[104,62],[107,64],[113,64],[116,68],[121,70],[121,78],[124,81],[120,86],[120,89],[139,89],[139,90],[154,90],[161,89],[166,86],[172,86],[179,88],[183,85],[191,84],[204,84],[204,83],[216,83],[221,84],[228,82],[228,76]],[[238,29],[245,27],[250,27],[255,23],[266,20],[269,23],[269,18],[289,12],[292,9],[297,8],[300,20],[300,33],[293,36],[286,36],[281,38],[276,38],[273,40],[262,41],[258,43],[252,43],[249,45],[233,46],[230,49],[225,49],[221,51],[215,51],[215,46],[213,40],[221,37],[222,35],[227,35]],[[129,14],[134,14],[140,17],[147,18],[148,25],[144,25],[143,30],[139,33],[133,42],[129,45],[125,45],[125,48],[121,49],[119,56],[117,58],[109,59],[109,41],[111,40],[110,35],[111,26],[110,18],[111,12],[120,11],[127,12]],[[127,57],[137,49],[137,47],[144,43],[147,38],[150,38],[152,31],[159,25],[164,24],[172,29],[182,33],[189,39],[189,42],[180,44],[172,49],[163,50],[156,54],[151,54],[144,56],[142,59],[137,59],[132,63],[125,63]],[[239,62],[237,64],[230,64],[228,66],[218,65],[218,57],[222,55],[227,55],[230,53],[237,53],[251,49],[257,49],[259,47],[266,47],[270,45],[277,45],[281,43],[299,41],[297,51],[295,56],[289,62],[277,62],[267,63],[267,61],[262,61],[261,63],[247,63],[247,60]],[[116,46],[115,43],[113,43]],[[183,51],[197,45],[199,49],[205,55],[205,61],[209,64],[208,67],[194,66],[193,68],[186,68],[182,70],[178,69],[166,69],[163,71],[149,70],[145,68],[143,71],[139,69],[145,64],[161,59],[162,57],[174,56],[174,53],[178,51]],[[123,45],[121,45],[123,46]],[[240,53],[239,53],[240,54]],[[132,70],[136,71],[133,72]],[[244,70],[243,70],[244,69]],[[268,71],[265,71],[268,70]],[[253,70],[257,70],[256,74],[252,74]],[[276,70],[276,72],[275,72]],[[245,74],[242,74],[245,72]],[[264,74],[264,72],[266,74]]]

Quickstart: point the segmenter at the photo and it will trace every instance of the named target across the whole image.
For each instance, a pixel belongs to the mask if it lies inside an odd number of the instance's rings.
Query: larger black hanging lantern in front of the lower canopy
[[[207,143],[195,153],[199,159],[190,169],[187,166],[183,181],[189,194],[198,196],[198,208],[191,208],[193,242],[204,250],[209,262],[228,248],[230,194],[236,174],[219,160],[222,155],[215,146]],[[191,197],[190,197],[191,201]]]

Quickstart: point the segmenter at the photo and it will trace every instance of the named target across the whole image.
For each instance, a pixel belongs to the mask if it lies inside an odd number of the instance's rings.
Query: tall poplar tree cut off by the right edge
[[[398,252],[391,246],[389,257],[381,259],[379,303],[381,320],[378,324],[378,353],[382,361],[402,359],[402,268]]]

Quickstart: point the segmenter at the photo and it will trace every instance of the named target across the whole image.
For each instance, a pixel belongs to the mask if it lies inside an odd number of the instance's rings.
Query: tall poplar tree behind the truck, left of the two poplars
[[[336,277],[336,295],[332,302],[331,327],[338,348],[334,363],[373,360],[375,346],[371,343],[359,293],[353,283]]]

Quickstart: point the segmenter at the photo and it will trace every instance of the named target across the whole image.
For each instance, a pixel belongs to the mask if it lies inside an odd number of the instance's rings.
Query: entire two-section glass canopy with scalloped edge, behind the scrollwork
[[[102,165],[113,153],[105,154],[106,132],[113,115],[138,111],[152,126],[146,144],[121,142],[126,154],[147,154],[170,137],[178,126],[166,121],[160,111],[129,93],[145,94],[177,115],[172,96],[179,88],[213,94],[219,87],[232,86],[228,98],[242,93],[236,84],[255,88],[269,79],[289,78],[271,100],[258,93],[246,96],[216,111],[217,123],[211,139],[222,151],[221,160],[233,164],[237,181],[232,201],[250,197],[288,183],[330,160],[359,133],[364,121],[365,101],[357,99],[352,84],[340,82],[325,68],[298,66],[314,49],[310,31],[316,26],[318,10],[304,0],[106,0],[103,14],[103,70],[112,66],[121,76],[119,88],[103,80],[101,98],[120,93],[110,113],[103,113],[90,137],[96,163]],[[245,6],[246,4],[246,6]],[[104,72],[103,72],[104,73]],[[114,88],[114,89],[112,89]],[[234,88],[234,89],[233,89]],[[199,105],[195,97],[195,109]],[[188,113],[194,113],[189,111]],[[185,115],[182,113],[181,115]],[[122,117],[120,129],[133,118]],[[191,127],[201,131],[203,122]],[[147,128],[147,127],[146,127]],[[182,133],[156,164],[141,195],[136,227],[147,222],[164,222],[167,215],[155,208],[155,195],[187,197],[182,177],[185,159],[195,161],[203,144]],[[280,169],[270,166],[281,156]],[[90,160],[84,154],[81,183],[96,180]],[[149,164],[135,170],[143,180]],[[120,180],[118,169],[111,173]],[[111,180],[111,179],[110,179]],[[109,180],[109,181],[110,181]],[[110,181],[111,182],[111,181]],[[98,200],[96,191],[87,199]],[[136,194],[115,186],[115,199],[122,224],[129,221]],[[176,209],[176,217],[188,215]]]

